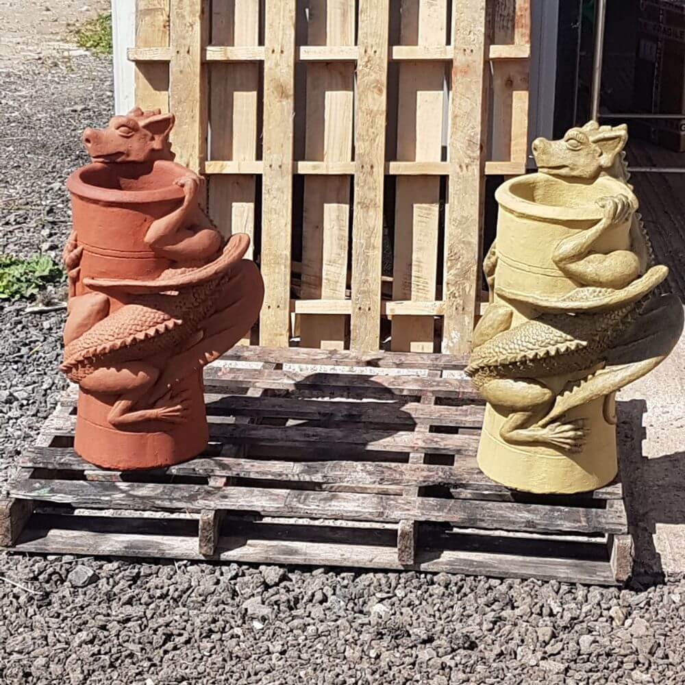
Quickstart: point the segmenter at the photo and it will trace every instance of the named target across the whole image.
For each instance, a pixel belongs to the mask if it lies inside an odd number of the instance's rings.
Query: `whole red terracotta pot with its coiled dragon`
[[[203,366],[245,337],[264,295],[249,238],[224,244],[201,179],[173,162],[173,114],[136,108],[86,129],[92,164],[68,179],[69,315],[60,368],[79,384],[75,451],[110,469],[197,456]]]

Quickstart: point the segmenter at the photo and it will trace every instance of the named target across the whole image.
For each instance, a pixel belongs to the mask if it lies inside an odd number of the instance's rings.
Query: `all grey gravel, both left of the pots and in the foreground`
[[[57,255],[106,60],[0,72],[0,250]],[[2,305],[0,305],[2,306]],[[0,318],[0,479],[63,380],[63,312]],[[0,554],[0,683],[633,684],[685,680],[685,582],[555,582]]]

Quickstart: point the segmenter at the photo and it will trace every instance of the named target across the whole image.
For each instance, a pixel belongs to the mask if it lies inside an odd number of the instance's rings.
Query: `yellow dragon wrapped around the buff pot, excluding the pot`
[[[586,421],[565,421],[566,413],[604,397],[605,419],[615,421],[608,398],[664,360],[682,332],[680,301],[651,294],[668,269],[653,264],[649,238],[632,203],[626,141],[625,125],[590,122],[562,140],[533,143],[542,174],[582,184],[609,175],[625,184],[625,195],[598,201],[600,221],[553,249],[553,264],[573,281],[574,290],[553,302],[530,298],[527,305],[536,314],[512,326],[511,293],[499,288],[495,277],[496,243],[484,260],[491,303],[474,331],[466,373],[486,401],[506,415],[499,436],[510,445],[582,451]],[[630,249],[593,250],[601,236],[628,220]],[[493,294],[499,296],[495,301]],[[546,380],[564,374],[575,379],[555,392]]]

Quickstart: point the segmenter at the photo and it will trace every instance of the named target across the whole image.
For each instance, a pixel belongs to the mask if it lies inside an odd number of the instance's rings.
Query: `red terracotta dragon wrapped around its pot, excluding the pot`
[[[99,164],[173,161],[173,124],[173,114],[135,108],[105,129],[86,129],[83,142]],[[248,236],[224,244],[200,206],[201,179],[186,172],[176,181],[180,206],[145,232],[145,244],[169,264],[157,277],[83,277],[76,232],[64,249],[70,298],[60,369],[86,393],[115,397],[108,421],[117,429],[186,421],[188,392],[177,384],[235,345],[262,304],[260,273],[242,260]]]

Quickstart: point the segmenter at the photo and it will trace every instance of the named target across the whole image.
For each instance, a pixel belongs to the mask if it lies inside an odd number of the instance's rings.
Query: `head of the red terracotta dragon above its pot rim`
[[[139,107],[110,119],[106,128],[87,128],[82,136],[93,162],[149,162],[173,160],[169,133],[173,114],[160,110],[143,112]]]

